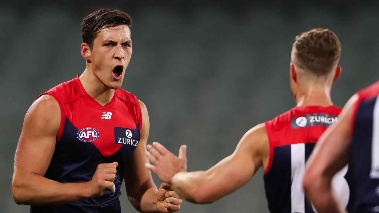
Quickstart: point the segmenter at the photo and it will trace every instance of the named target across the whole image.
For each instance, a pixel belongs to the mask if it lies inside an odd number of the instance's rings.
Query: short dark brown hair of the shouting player
[[[127,13],[118,9],[99,9],[86,16],[81,22],[81,37],[83,42],[92,49],[96,35],[103,27],[111,28],[122,24],[130,29],[132,27],[132,18]]]

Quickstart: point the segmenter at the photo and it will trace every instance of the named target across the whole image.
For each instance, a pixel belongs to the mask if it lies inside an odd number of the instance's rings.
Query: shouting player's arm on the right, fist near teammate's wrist
[[[138,146],[133,152],[133,156],[128,161],[128,164],[125,168],[125,187],[128,199],[133,207],[140,212],[177,211],[179,210],[180,204],[182,204],[182,200],[169,200],[172,204],[163,202],[166,199],[166,197],[164,197],[164,194],[169,191],[169,185],[163,184],[163,186],[166,187],[162,188],[161,186],[159,188],[160,193],[158,193],[157,186],[155,186],[151,177],[151,172],[145,168],[145,163],[149,162],[149,159],[146,157],[145,152],[147,138],[149,136],[150,122],[146,106],[141,101],[139,104],[142,112],[143,127]],[[158,194],[161,194],[163,196],[163,198],[161,198],[163,200],[158,200]]]

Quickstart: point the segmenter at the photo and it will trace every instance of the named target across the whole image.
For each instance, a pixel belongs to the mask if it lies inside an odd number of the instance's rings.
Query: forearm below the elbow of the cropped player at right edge
[[[319,179],[319,181],[309,182],[304,185],[304,190],[319,213],[346,213],[332,190],[330,179],[324,177]]]

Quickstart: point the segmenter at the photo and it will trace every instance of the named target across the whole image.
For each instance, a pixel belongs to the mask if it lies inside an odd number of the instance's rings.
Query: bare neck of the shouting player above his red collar
[[[89,96],[102,106],[105,106],[112,100],[114,89],[106,87],[88,67],[80,75],[79,80]]]

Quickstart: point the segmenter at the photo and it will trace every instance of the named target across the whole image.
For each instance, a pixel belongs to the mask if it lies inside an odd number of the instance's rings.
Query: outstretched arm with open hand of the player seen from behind
[[[186,172],[185,146],[179,158],[159,143],[148,145],[147,156],[155,164],[146,164],[158,177],[171,184],[186,200],[211,203],[243,186],[262,166],[268,150],[266,127],[259,124],[245,133],[232,155],[207,171]]]

